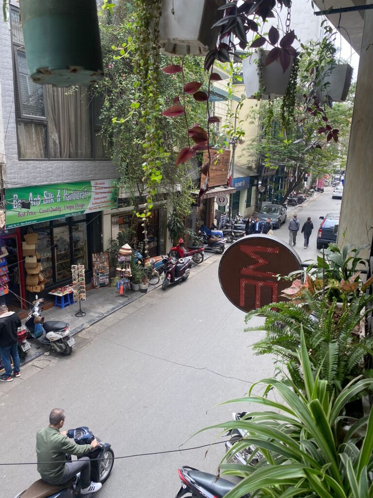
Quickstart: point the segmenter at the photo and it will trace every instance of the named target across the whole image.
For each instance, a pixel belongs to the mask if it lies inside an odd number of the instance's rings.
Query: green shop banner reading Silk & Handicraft
[[[5,189],[5,226],[21,227],[116,208],[116,180],[51,183]],[[25,209],[24,202],[30,203]]]

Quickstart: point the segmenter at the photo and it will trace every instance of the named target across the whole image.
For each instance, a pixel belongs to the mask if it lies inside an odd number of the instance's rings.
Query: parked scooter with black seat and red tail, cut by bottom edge
[[[241,481],[241,478],[236,476],[216,477],[188,466],[178,469],[178,473],[182,487],[176,498],[187,494],[192,498],[222,498]],[[243,495],[242,498],[250,498],[250,495]]]

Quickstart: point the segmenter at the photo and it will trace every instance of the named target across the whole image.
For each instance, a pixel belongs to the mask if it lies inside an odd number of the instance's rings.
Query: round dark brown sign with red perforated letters
[[[233,243],[221,256],[219,280],[227,298],[242,311],[287,301],[280,294],[290,286],[276,275],[300,270],[298,254],[268,235],[249,235]]]

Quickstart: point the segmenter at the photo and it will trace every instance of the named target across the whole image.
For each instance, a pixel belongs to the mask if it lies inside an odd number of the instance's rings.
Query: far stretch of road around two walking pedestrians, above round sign
[[[284,225],[281,226],[280,230],[274,230],[274,235],[279,237],[279,239],[289,242],[289,232],[287,229],[288,222],[290,221],[292,215],[294,213],[297,214],[297,218],[300,221],[300,226],[303,226],[303,223],[307,220],[307,217],[310,216],[313,222],[314,230],[312,231],[309,246],[307,249],[304,249],[304,239],[303,234],[298,233],[296,239],[296,246],[294,249],[298,252],[300,259],[304,262],[308,262],[308,260],[315,260],[320,251],[316,248],[316,237],[317,231],[319,229],[321,220],[320,216],[325,216],[328,212],[340,212],[341,210],[341,199],[332,199],[332,187],[326,187],[324,193],[317,193],[310,199],[307,199],[302,204],[299,204],[295,207],[287,208],[287,220]]]

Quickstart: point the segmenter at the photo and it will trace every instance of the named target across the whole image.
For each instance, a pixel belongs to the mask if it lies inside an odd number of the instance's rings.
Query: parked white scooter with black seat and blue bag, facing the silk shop
[[[28,335],[37,339],[44,346],[52,347],[57,353],[62,355],[71,355],[72,347],[75,345],[74,337],[70,337],[69,324],[66,322],[50,321],[44,322],[44,317],[41,317],[44,299],[38,299],[32,302],[34,305],[30,310],[25,327]],[[36,325],[41,325],[36,327]]]

